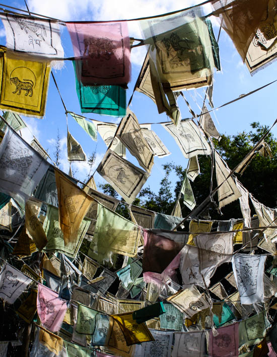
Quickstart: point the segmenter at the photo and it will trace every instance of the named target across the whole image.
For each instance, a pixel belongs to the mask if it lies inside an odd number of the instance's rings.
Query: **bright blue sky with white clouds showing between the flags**
[[[151,2],[147,0],[134,0],[131,2],[127,0],[118,0],[116,2],[114,0],[102,0],[101,2],[92,2],[91,0],[82,0],[79,2],[74,0],[47,0],[44,2],[41,0],[26,1],[31,11],[64,21],[130,19],[163,14],[165,12],[182,9],[185,6],[199,3],[195,1],[183,2],[181,0],[176,0],[175,2],[164,0],[152,0]],[[26,10],[25,3],[21,0],[4,0],[2,3]],[[209,10],[208,6],[206,7],[205,12],[209,13]],[[211,18],[211,20],[214,24],[214,31],[217,37],[219,25],[216,19]],[[130,22],[128,25],[131,36],[141,37],[137,23]],[[64,26],[61,26],[61,31],[65,56],[71,56],[73,55],[73,49],[70,36]],[[0,28],[0,43],[3,45],[6,44],[5,30],[2,24]],[[243,65],[232,41],[224,31],[221,32],[219,46],[222,71],[214,74],[215,107],[277,79],[276,63],[271,64],[251,77],[246,66]],[[132,93],[134,83],[141,69],[145,53],[146,49],[143,47],[138,47],[131,51],[132,77],[131,82],[128,85],[127,101]],[[75,75],[72,63],[66,61],[62,70],[53,70],[53,73],[67,110],[81,114],[75,88]],[[271,125],[276,118],[276,86],[277,83],[274,83],[251,96],[212,113],[211,115],[218,131],[230,135],[243,130],[248,131],[250,129],[250,123],[254,121],[258,121],[263,125]],[[195,101],[202,107],[204,90],[205,88],[200,88],[197,91],[184,91],[186,99],[196,113],[199,113],[200,110]],[[191,115],[186,104],[180,97],[178,98],[178,104],[181,109],[182,118],[190,117]],[[157,108],[150,98],[138,92],[135,92],[133,96],[130,109],[135,113],[140,123],[159,123],[168,121],[165,114],[158,114]],[[84,115],[88,118],[95,118],[96,120],[103,122],[119,123],[120,121],[120,118],[110,116],[100,116],[91,113]],[[24,118],[24,120],[28,124],[30,131],[39,139],[44,148],[49,149],[51,157],[54,152],[54,140],[57,135],[57,129],[59,129],[62,144],[61,168],[65,172],[68,172],[69,164],[66,158],[66,118],[64,108],[51,78],[45,117],[43,120],[37,118]],[[106,151],[106,146],[101,137],[98,136],[97,143],[92,141],[70,116],[68,116],[68,127],[72,135],[81,143],[87,157],[96,149],[97,159],[94,167],[96,168]],[[176,164],[186,166],[187,159],[183,157],[174,139],[162,128],[161,125],[153,125],[152,129],[158,134],[172,153],[170,156],[162,159],[155,157],[155,165],[153,166],[151,176],[149,177],[146,186],[150,185],[154,191],[157,191],[159,188],[158,183],[162,177],[162,164],[166,162],[175,162]],[[25,129],[23,134],[27,141],[32,140],[30,131]],[[272,133],[277,136],[277,127],[273,128]],[[133,158],[130,153],[127,153],[127,159],[138,165],[136,159]],[[88,165],[86,163],[74,163],[72,167],[73,170],[78,170],[76,173],[77,178],[85,180],[85,176],[88,172]],[[95,180],[96,183],[103,182],[103,179],[98,173],[95,174]],[[172,177],[172,181],[175,181],[174,177]]]

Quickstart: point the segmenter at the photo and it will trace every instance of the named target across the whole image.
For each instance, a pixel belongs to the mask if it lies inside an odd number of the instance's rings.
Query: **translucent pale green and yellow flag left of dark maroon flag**
[[[98,203],[94,238],[88,255],[96,254],[99,262],[109,260],[112,252],[134,257],[140,237],[137,225]]]

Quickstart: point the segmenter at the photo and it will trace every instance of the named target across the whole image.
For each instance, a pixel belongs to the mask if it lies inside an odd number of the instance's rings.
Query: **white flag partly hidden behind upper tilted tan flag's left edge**
[[[123,116],[125,113],[123,114]],[[121,143],[120,140],[114,137],[115,132],[117,131],[117,124],[112,123],[102,123],[102,122],[94,122],[97,126],[98,133],[100,134],[101,138],[104,140],[107,146],[111,144],[110,149],[116,152],[119,156],[126,157],[126,148]]]

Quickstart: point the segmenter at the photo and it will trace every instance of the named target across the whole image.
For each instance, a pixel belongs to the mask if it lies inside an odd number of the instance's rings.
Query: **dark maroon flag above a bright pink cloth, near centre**
[[[170,233],[169,237],[144,230],[143,272],[163,273],[181,251],[185,238],[180,242],[180,233]]]

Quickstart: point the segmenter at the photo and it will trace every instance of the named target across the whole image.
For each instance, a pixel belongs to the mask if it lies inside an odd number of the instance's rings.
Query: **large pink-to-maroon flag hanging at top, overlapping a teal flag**
[[[84,85],[126,85],[130,80],[130,40],[126,22],[66,23]],[[82,57],[82,58],[80,58]],[[78,68],[78,66],[76,66]]]

